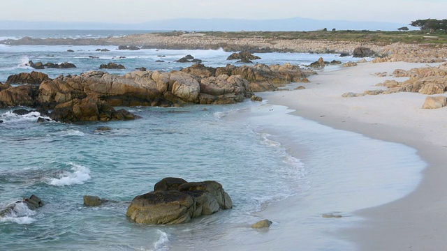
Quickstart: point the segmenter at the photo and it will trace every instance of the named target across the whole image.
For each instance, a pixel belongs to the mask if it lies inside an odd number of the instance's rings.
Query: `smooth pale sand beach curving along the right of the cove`
[[[447,107],[421,109],[426,96],[419,93],[342,98],[346,92],[384,88],[374,85],[393,79],[372,73],[422,66],[425,64],[360,63],[309,77],[311,82],[302,84],[305,90],[259,93],[269,104],[285,105],[295,109],[293,114],[323,125],[411,146],[428,163],[423,180],[410,195],[353,212],[355,217],[367,220],[337,235],[356,243],[356,250],[447,250]],[[284,206],[293,204],[293,198],[287,199],[272,205],[264,215],[274,218],[279,208],[284,211]],[[293,217],[293,212],[285,213]],[[299,233],[284,236],[283,244],[293,241],[295,234]]]

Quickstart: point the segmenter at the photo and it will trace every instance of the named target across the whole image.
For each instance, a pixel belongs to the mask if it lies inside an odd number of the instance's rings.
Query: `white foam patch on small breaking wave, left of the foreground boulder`
[[[47,183],[50,185],[64,186],[64,185],[75,185],[75,184],[83,184],[85,181],[88,181],[90,177],[90,169],[84,167],[82,165],[76,165],[74,163],[70,163],[73,167],[71,170],[73,172],[61,172],[58,178],[50,178],[50,181]]]

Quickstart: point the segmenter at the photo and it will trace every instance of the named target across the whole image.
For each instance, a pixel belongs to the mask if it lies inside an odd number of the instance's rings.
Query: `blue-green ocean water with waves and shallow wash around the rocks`
[[[2,38],[126,36],[135,31],[2,31]],[[98,35],[99,34],[99,35]],[[108,49],[99,52],[97,49]],[[68,52],[73,50],[73,52]],[[0,82],[31,72],[28,61],[74,63],[77,68],[41,70],[50,77],[99,70],[102,63],[179,70],[186,54],[205,66],[226,66],[223,50],[117,50],[117,46],[0,45]],[[305,66],[352,61],[337,54],[257,54],[257,63]],[[162,60],[163,62],[156,62]],[[340,70],[330,66],[325,70]],[[292,89],[296,84],[291,84]],[[287,88],[287,86],[286,86]],[[352,227],[361,208],[399,199],[416,188],[425,162],[414,149],[335,130],[290,114],[287,107],[246,100],[235,105],[125,107],[135,121],[36,123],[37,112],[18,116],[0,109],[0,208],[41,197],[42,208],[17,209],[0,218],[0,250],[356,250],[337,236]],[[97,130],[108,126],[112,130]],[[126,218],[133,197],[162,178],[214,180],[234,207],[175,226],[138,225]],[[84,195],[113,202],[85,207]],[[270,218],[269,230],[250,225],[284,201],[291,208]],[[284,215],[296,227],[286,224]],[[343,215],[325,219],[324,213]],[[285,227],[287,226],[287,227]],[[297,232],[296,246],[281,236]],[[328,231],[330,234],[328,234]],[[323,238],[324,236],[324,238]],[[305,243],[305,245],[303,244]],[[287,248],[285,248],[287,247]]]

